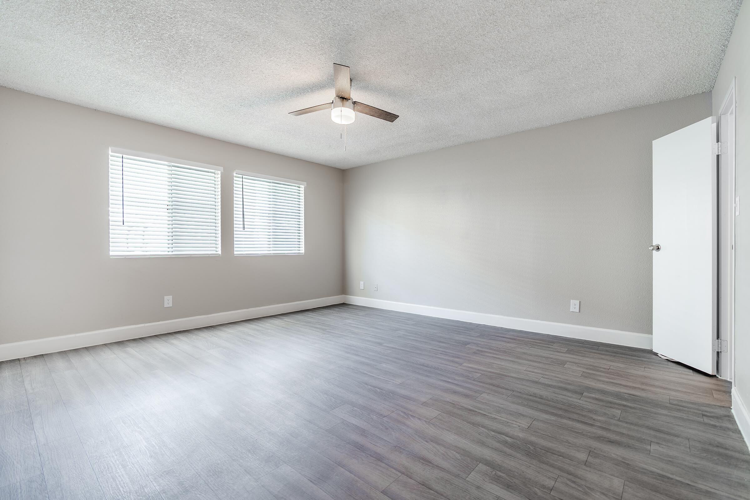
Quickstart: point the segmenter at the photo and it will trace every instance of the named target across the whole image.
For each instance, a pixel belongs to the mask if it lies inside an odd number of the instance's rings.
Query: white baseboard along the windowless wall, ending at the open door
[[[472,313],[471,311],[458,309],[420,306],[418,304],[406,304],[404,302],[382,301],[377,298],[355,297],[354,295],[345,295],[345,299],[347,304],[356,304],[359,306],[377,307],[378,309],[401,311],[402,313],[422,314],[422,316],[434,316],[436,318],[458,319],[458,321],[478,323],[480,325],[492,325],[502,328],[512,328],[514,330],[533,331],[538,334],[595,340],[597,342],[617,344],[619,346],[651,349],[650,335],[636,334],[631,331],[568,325],[567,323],[554,323],[540,321],[538,319],[511,318],[510,316],[499,316],[497,314]]]

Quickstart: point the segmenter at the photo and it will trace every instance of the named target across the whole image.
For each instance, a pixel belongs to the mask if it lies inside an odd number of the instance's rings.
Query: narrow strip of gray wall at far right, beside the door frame
[[[750,405],[750,5],[742,5],[721,70],[713,88],[713,114],[721,112],[731,79],[736,76],[736,194],[740,198],[735,228],[734,385]]]

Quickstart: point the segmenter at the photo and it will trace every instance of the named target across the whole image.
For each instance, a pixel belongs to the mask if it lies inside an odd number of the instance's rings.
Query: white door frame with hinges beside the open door
[[[718,338],[727,341],[727,352],[718,353],[718,372],[721,379],[734,380],[734,224],[735,224],[735,169],[736,169],[736,78],[730,82],[718,113],[718,142],[726,142],[726,153],[718,154],[718,203],[726,208],[722,217],[718,209]],[[721,193],[727,193],[722,199]],[[727,262],[724,267],[722,259]],[[723,268],[723,270],[722,270]],[[723,272],[722,272],[723,271]],[[723,293],[722,293],[723,291]],[[726,304],[726,310],[722,304]]]

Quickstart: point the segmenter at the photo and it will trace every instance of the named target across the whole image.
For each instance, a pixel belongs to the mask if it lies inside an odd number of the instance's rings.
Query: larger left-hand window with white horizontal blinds
[[[110,149],[110,256],[219,255],[220,172]]]

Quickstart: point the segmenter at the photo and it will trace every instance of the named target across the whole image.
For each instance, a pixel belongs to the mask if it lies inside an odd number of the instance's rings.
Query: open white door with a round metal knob
[[[653,142],[653,350],[711,374],[716,373],[716,137],[711,117]]]

